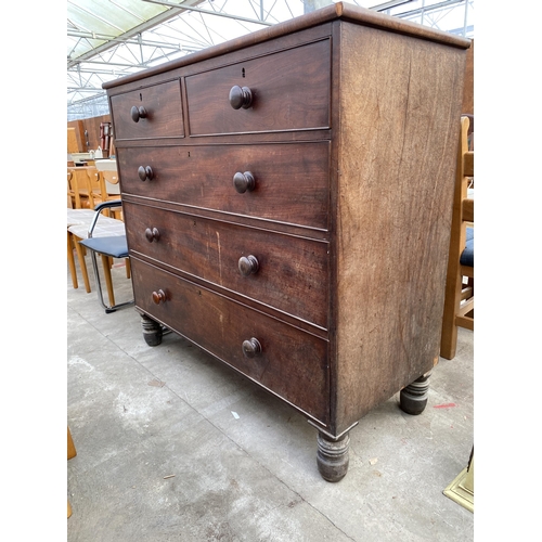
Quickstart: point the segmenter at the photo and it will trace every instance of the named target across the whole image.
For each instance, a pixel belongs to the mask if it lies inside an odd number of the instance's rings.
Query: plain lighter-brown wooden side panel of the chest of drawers
[[[335,423],[438,361],[465,53],[343,24]]]

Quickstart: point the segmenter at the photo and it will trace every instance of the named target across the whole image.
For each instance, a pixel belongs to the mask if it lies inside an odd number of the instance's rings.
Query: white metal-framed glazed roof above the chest
[[[474,37],[474,0],[347,0]],[[67,119],[108,113],[102,83],[274,25],[332,0],[67,0]]]

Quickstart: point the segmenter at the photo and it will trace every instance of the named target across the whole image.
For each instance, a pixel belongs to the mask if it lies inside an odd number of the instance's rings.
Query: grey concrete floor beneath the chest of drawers
[[[122,268],[114,283],[117,301],[131,296]],[[472,541],[474,514],[442,491],[474,443],[473,365],[460,330],[425,412],[398,395],[372,411],[330,483],[304,416],[175,334],[149,347],[132,307],[105,314],[68,273],[67,540]]]

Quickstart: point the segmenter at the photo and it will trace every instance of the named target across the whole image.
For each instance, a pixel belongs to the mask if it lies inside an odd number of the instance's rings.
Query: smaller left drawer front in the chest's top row
[[[179,79],[112,96],[111,106],[116,140],[184,137]]]

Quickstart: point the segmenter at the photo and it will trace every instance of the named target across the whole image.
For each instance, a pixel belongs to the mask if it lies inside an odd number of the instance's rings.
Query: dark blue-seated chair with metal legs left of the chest
[[[101,235],[101,236],[94,235],[94,230],[96,228],[101,212],[105,209],[112,209],[114,207],[119,207],[119,206],[120,206],[120,199],[116,199],[113,202],[104,202],[96,205],[94,208],[96,212],[88,229],[88,236],[87,238],[79,241],[79,244],[85,246],[90,251],[92,268],[94,270],[94,278],[96,282],[98,299],[102,305],[102,307],[105,309],[106,313],[115,312],[117,309],[120,309],[122,307],[128,307],[130,305],[133,305],[134,302],[133,299],[131,299],[129,301],[125,301],[121,304],[115,304],[115,294],[113,291],[113,280],[111,275],[111,264],[109,264],[111,258],[125,259],[127,266],[127,275],[128,276],[130,275],[129,273],[130,260],[128,258],[128,244],[126,242],[126,233],[124,234],[117,233],[114,235]],[[115,219],[109,219],[109,220],[115,220]],[[124,225],[122,222],[120,223]],[[107,297],[109,300],[109,305],[105,304],[104,296],[102,293],[96,254],[100,254],[102,258],[102,264],[103,264],[102,267],[105,276],[105,282],[107,285]]]

